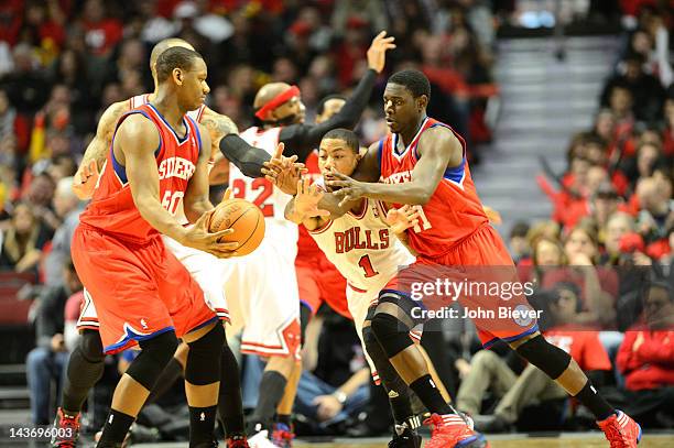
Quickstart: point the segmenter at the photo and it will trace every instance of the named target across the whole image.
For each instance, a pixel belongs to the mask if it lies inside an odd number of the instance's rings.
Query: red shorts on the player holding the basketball
[[[96,306],[106,353],[170,330],[180,338],[217,320],[199,286],[160,236],[135,244],[80,225],[72,255]]]

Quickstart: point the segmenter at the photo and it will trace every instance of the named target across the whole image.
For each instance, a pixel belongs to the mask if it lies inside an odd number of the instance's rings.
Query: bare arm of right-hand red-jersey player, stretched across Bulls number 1
[[[431,200],[445,170],[460,165],[464,150],[452,132],[438,127],[422,134],[417,153],[420,159],[412,171],[411,182],[392,185],[365,183],[335,173],[339,181],[328,182],[328,185],[341,188],[336,194],[344,198],[343,201],[369,197],[388,203],[424,205]]]

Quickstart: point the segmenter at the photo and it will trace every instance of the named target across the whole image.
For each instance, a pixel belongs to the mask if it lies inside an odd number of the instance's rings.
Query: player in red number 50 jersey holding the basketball
[[[206,64],[193,50],[172,47],[159,56],[156,73],[154,101],[120,118],[73,236],[73,261],[98,310],[105,352],[142,348],[115,391],[99,447],[122,444],[178,337],[189,345],[191,446],[214,444],[225,331],[161,233],[219,258],[238,244],[218,242],[228,231],[208,232],[210,138],[185,116],[209,91]],[[175,218],[181,198],[192,228]]]

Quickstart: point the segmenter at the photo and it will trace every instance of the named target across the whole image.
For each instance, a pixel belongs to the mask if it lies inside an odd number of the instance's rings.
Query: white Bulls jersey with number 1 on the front
[[[327,259],[356,291],[379,289],[396,274],[399,266],[414,262],[414,256],[390,232],[383,216],[378,201],[365,198],[360,214],[349,211],[309,230]]]

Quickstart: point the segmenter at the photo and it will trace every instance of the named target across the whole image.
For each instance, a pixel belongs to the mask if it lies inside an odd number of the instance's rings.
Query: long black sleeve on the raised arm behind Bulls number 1
[[[354,129],[372,96],[376,80],[377,72],[369,69],[360,79],[354,94],[351,94],[341,110],[329,120],[320,124],[292,124],[283,128],[279,138],[285,143],[286,152],[284,154],[296,154],[297,159],[304,162],[306,156],[318,146],[320,139],[323,139],[327,131],[337,128]]]

